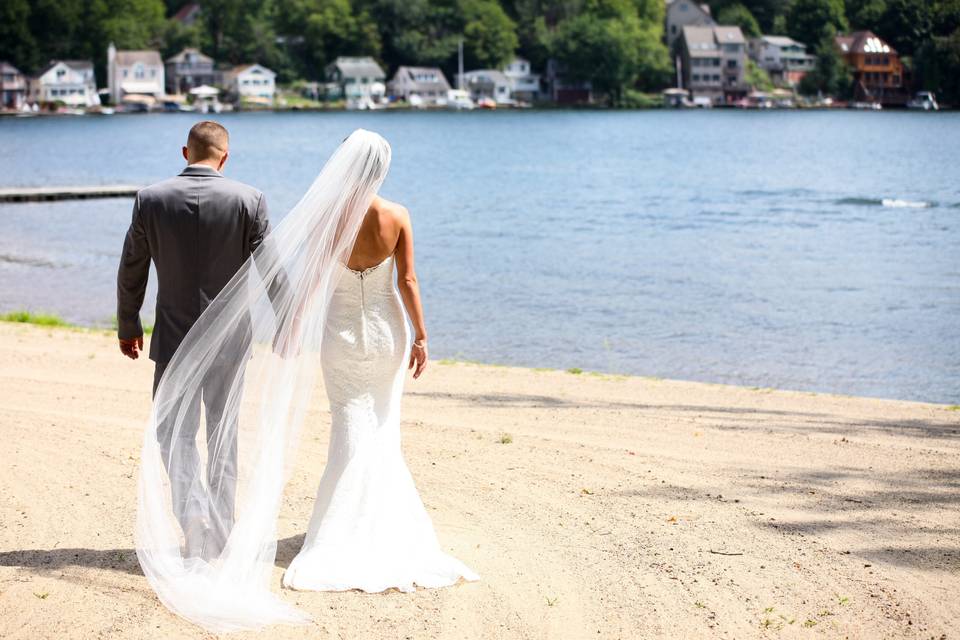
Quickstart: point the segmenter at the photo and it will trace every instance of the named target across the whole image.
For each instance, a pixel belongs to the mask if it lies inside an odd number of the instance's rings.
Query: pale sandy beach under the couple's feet
[[[152,363],[0,323],[0,637],[209,637],[133,551]],[[326,458],[318,397],[274,584]],[[404,453],[482,580],[299,593],[269,638],[955,638],[956,407],[434,361]]]

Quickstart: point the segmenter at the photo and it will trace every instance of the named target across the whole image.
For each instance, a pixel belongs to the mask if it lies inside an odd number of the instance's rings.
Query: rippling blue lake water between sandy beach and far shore
[[[2,118],[0,186],[160,180],[195,119]],[[960,401],[960,114],[221,120],[275,222],[351,130],[391,141],[435,357]],[[109,324],[130,207],[0,205],[0,310]]]

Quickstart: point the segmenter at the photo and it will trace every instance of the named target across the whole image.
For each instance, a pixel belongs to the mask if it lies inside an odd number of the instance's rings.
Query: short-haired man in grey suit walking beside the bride
[[[198,122],[183,147],[187,167],[174,178],[141,189],[134,200],[117,274],[117,329],[120,351],[136,360],[143,349],[140,308],[153,260],[158,281],[156,324],[150,340],[154,395],[184,336],[270,229],[263,194],[220,173],[228,156],[227,130],[216,122]],[[201,391],[184,400],[187,411],[175,441],[172,425],[158,427],[164,462],[171,451],[187,461],[187,473],[177,473],[170,484],[188,557],[216,557],[233,527],[236,438],[214,441],[221,420],[236,420],[235,411],[224,413],[230,382],[243,375],[239,366],[230,365],[230,370],[214,366],[207,373]],[[196,444],[201,397],[209,451],[206,488],[200,481]]]

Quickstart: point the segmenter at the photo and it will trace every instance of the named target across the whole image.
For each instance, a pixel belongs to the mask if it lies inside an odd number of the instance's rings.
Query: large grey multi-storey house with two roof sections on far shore
[[[678,51],[683,88],[694,102],[732,104],[747,95],[747,43],[740,27],[684,26]]]

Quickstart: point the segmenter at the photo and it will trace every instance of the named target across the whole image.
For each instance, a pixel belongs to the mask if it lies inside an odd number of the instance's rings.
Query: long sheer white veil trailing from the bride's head
[[[160,600],[210,631],[309,621],[270,589],[277,518],[337,263],[350,256],[390,154],[362,129],[340,145],[203,312],[157,389],[137,557]]]

